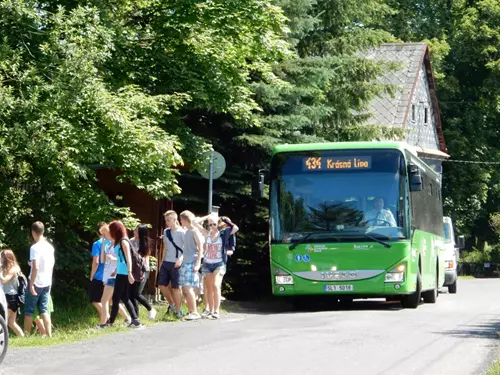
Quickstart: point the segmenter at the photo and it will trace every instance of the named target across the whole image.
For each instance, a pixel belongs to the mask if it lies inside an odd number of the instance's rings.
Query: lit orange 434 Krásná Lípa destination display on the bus
[[[304,171],[371,169],[371,156],[325,157],[310,156],[302,159]]]

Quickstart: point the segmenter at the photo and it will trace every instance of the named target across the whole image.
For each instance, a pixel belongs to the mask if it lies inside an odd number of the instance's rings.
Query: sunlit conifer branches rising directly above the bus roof
[[[289,141],[361,140],[394,136],[384,127],[360,126],[369,101],[389,87],[375,78],[387,65],[359,53],[390,39],[372,28],[390,10],[378,0],[278,1],[290,15],[295,57],[273,64],[275,81],[256,76],[251,84],[262,106],[262,126],[238,141],[269,152]]]

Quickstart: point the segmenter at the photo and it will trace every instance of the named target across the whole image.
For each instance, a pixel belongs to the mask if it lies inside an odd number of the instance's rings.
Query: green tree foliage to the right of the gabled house
[[[494,0],[388,1],[394,36],[427,41],[452,159],[498,162],[500,4]],[[497,241],[489,225],[500,203],[494,164],[445,163],[445,211],[483,249]]]

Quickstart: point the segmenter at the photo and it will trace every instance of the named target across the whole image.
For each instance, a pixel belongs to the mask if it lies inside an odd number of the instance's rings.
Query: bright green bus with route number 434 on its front
[[[409,145],[277,146],[269,198],[274,295],[436,302],[441,178]]]

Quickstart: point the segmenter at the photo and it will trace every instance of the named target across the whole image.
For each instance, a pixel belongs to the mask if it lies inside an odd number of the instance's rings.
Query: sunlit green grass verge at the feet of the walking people
[[[34,347],[34,346],[52,346],[66,344],[76,341],[88,340],[99,336],[108,335],[115,332],[124,332],[130,330],[125,326],[121,316],[115,321],[113,328],[97,330],[95,327],[99,323],[97,311],[87,302],[79,309],[75,308],[58,308],[55,306],[52,314],[52,338],[42,338],[38,333],[32,334],[29,337],[16,337],[12,332],[9,337],[9,346],[11,348]],[[140,319],[146,326],[151,326],[159,322],[177,322],[173,315],[166,315],[168,305],[154,305],[158,311],[155,321],[147,319],[147,311],[144,307],[140,307]],[[203,306],[198,306],[202,311]],[[183,307],[184,312],[186,308]],[[18,323],[22,325],[22,317],[18,318]]]

